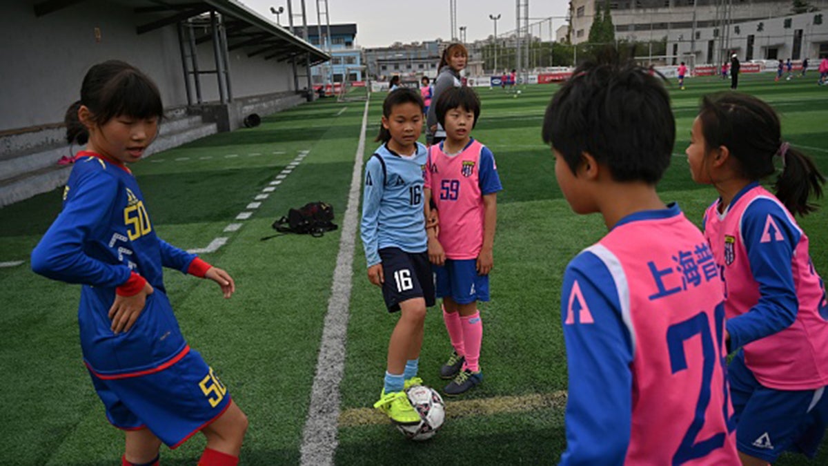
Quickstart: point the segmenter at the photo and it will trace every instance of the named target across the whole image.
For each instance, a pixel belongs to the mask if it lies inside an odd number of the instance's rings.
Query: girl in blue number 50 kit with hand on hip
[[[66,112],[70,142],[88,138],[64,191],[63,211],[31,253],[38,274],[81,284],[84,363],[112,425],[124,430],[123,465],[158,464],[201,431],[201,466],[238,464],[248,420],[200,354],[187,345],[166,297],[162,267],[211,279],[230,275],[156,235],[127,167],[141,159],[163,116],[155,83],[123,61],[89,69]]]

